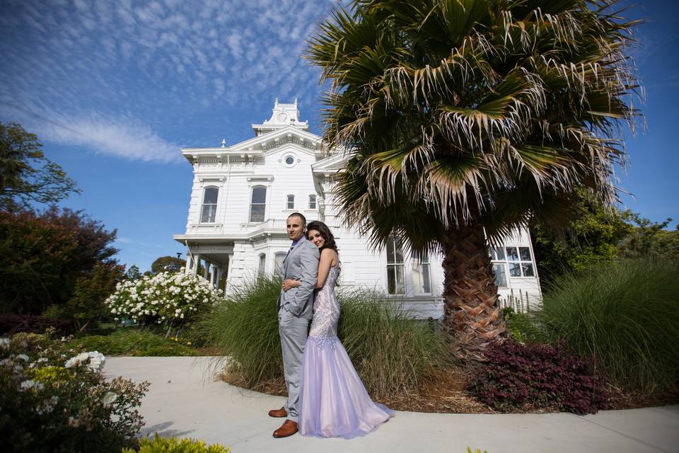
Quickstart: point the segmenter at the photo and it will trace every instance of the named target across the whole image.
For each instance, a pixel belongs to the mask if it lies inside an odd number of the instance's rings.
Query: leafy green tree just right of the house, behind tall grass
[[[632,232],[615,208],[604,207],[584,190],[574,196],[574,219],[564,234],[538,222],[530,226],[540,280],[546,286],[563,273],[615,259],[618,244]]]

